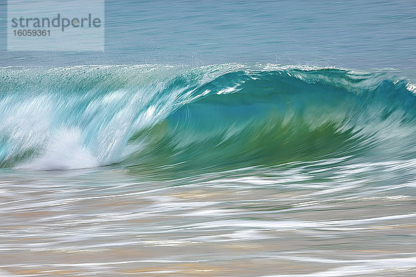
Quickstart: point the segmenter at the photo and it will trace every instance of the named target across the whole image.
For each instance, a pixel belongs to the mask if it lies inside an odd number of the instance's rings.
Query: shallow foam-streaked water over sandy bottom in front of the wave
[[[414,183],[328,163],[169,181],[3,172],[2,276],[413,276]]]

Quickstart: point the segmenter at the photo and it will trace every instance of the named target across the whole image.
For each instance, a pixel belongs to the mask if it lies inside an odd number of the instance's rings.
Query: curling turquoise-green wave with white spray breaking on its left
[[[415,96],[385,72],[77,66],[0,80],[3,168],[224,170],[415,150]]]

